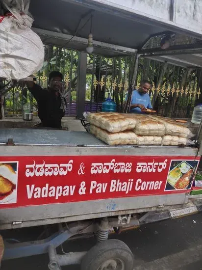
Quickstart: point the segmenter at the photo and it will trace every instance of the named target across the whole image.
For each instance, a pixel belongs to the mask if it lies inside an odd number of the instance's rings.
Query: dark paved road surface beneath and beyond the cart
[[[195,223],[196,222],[196,223]],[[111,235],[124,241],[135,257],[134,270],[202,270],[202,214],[162,221]],[[94,238],[64,244],[64,251],[84,251],[95,243]],[[33,256],[2,263],[3,270],[46,270],[48,256]],[[79,267],[63,267],[79,270]]]

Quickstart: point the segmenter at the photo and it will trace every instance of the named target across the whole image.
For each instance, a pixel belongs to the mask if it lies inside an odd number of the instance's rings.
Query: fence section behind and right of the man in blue
[[[136,88],[143,79],[151,81],[151,102],[159,115],[190,118],[195,105],[201,100],[201,76],[200,68],[182,68],[141,58]]]

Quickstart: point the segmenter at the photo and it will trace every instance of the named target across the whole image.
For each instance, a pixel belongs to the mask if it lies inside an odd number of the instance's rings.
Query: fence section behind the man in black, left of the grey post
[[[42,88],[48,87],[48,76],[53,70],[63,74],[63,95],[67,99],[68,108],[66,115],[76,115],[75,103],[77,93],[77,67],[78,52],[45,45],[45,60],[43,68],[34,76]],[[5,115],[19,115],[23,111],[32,111],[37,115],[37,102],[27,88],[17,86],[11,89],[5,96]]]

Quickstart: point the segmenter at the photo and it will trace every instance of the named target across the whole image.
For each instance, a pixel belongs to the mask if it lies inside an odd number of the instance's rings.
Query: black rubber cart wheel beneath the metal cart
[[[92,247],[81,262],[81,270],[132,270],[133,263],[129,247],[113,239]]]

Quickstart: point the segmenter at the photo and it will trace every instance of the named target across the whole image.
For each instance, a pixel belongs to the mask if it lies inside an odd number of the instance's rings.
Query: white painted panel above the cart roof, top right
[[[174,0],[174,21],[170,21],[171,0],[88,0],[184,28],[202,35],[202,0]]]

